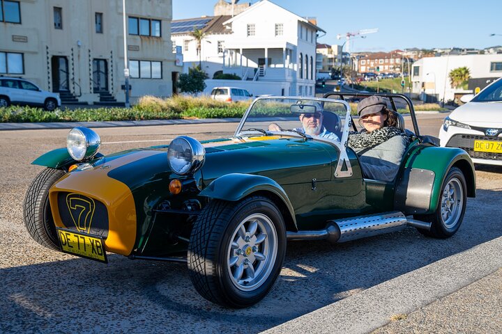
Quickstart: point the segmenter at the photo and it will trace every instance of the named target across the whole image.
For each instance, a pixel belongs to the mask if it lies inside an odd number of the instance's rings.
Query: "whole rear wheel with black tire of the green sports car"
[[[448,189],[447,189],[448,187]],[[446,192],[451,196],[446,196]],[[450,200],[450,198],[453,200]],[[419,221],[427,221],[432,223],[429,231],[418,229],[418,231],[427,237],[434,237],[438,239],[446,239],[451,237],[457,232],[464,219],[465,209],[467,203],[467,186],[464,173],[457,167],[452,167],[443,181],[441,186],[441,193],[439,194],[438,205],[434,214],[415,215]],[[445,209],[443,209],[443,207]],[[448,217],[448,209],[451,216]],[[453,208],[453,209],[452,209]],[[446,215],[446,218],[445,218]]]

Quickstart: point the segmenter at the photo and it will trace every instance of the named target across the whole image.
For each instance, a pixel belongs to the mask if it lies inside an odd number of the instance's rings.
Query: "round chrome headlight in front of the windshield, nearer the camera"
[[[204,146],[189,136],[174,138],[167,150],[169,166],[179,175],[195,173],[204,165],[205,157]]]

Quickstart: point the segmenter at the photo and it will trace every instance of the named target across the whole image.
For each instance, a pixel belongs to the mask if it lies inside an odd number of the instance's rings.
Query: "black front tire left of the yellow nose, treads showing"
[[[23,220],[26,230],[38,244],[59,250],[54,219],[50,209],[49,189],[66,173],[45,168],[31,182],[23,202]]]

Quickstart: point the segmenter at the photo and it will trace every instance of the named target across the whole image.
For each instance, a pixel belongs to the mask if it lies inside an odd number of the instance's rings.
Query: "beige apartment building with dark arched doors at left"
[[[0,2],[0,75],[24,77],[69,102],[125,100],[122,1]],[[171,1],[126,1],[131,102],[173,93],[171,21]]]

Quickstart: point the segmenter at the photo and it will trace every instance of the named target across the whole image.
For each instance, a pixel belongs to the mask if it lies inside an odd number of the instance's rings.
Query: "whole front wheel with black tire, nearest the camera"
[[[240,202],[212,200],[190,235],[190,279],[208,301],[245,308],[261,301],[273,287],[285,253],[284,219],[271,200],[261,196]]]

